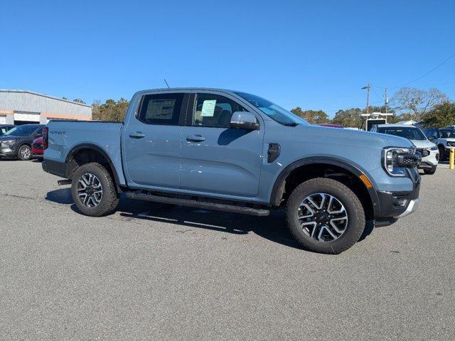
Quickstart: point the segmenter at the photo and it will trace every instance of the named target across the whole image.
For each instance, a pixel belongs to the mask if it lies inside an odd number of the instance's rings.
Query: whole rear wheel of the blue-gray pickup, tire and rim
[[[71,183],[71,194],[77,209],[91,217],[109,215],[119,203],[114,181],[100,163],[87,163],[77,168]]]

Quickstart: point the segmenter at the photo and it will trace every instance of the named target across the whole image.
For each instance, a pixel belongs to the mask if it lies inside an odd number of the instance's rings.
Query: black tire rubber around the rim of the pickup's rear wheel
[[[85,173],[95,175],[100,180],[102,186],[102,198],[100,203],[95,207],[85,206],[77,195],[77,183]],[[112,176],[100,163],[86,163],[77,168],[71,183],[71,194],[73,195],[77,210],[90,217],[109,215],[114,212],[119,203],[119,193],[117,193]]]

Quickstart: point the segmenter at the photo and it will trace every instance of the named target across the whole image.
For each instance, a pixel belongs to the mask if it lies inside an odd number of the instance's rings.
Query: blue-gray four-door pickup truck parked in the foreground
[[[285,210],[304,248],[338,254],[367,221],[419,204],[407,139],[313,126],[267,99],[204,88],[134,94],[124,123],[50,121],[43,169],[71,183],[85,215],[130,199],[265,216]]]

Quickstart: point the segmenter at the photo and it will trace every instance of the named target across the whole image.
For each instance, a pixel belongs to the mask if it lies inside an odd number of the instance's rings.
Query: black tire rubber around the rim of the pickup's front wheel
[[[345,232],[330,242],[317,241],[305,234],[298,220],[302,200],[316,193],[333,195],[343,204],[348,214]],[[357,195],[346,185],[328,178],[314,178],[298,185],[287,199],[285,207],[287,226],[304,249],[323,254],[340,254],[355,244],[365,229],[365,211]]]

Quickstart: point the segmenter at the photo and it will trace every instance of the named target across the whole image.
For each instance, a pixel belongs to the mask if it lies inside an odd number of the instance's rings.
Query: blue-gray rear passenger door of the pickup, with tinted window
[[[144,94],[122,131],[130,187],[180,188],[182,122],[189,91]]]

